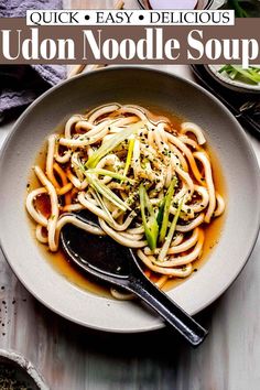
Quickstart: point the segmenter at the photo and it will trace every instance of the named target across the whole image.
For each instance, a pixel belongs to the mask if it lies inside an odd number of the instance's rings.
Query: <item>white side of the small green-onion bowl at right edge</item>
[[[205,65],[206,71],[220,83],[224,87],[236,90],[238,93],[248,93],[248,94],[260,94],[260,83],[258,85],[247,84],[237,79],[231,79],[228,77],[226,72],[219,73],[224,65]]]

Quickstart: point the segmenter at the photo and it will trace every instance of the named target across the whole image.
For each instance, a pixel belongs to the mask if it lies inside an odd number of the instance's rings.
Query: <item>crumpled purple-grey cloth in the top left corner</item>
[[[1,18],[25,17],[29,9],[62,9],[62,0],[0,0]],[[0,65],[0,121],[19,115],[65,76],[62,65]]]

